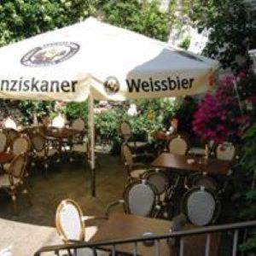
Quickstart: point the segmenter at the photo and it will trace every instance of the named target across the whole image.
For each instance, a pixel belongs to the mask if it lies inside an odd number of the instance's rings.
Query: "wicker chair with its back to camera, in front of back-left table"
[[[51,157],[57,154],[55,148],[49,147],[46,138],[40,134],[35,133],[32,138],[32,166],[35,166],[35,161],[41,161],[44,165],[44,169],[48,170],[49,160]]]

